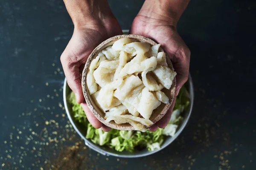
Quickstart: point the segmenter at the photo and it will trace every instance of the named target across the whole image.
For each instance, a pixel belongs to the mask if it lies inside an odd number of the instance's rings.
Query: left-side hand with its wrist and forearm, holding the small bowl
[[[81,2],[84,3],[84,1]],[[100,5],[104,2],[101,1]],[[90,14],[87,14],[79,11],[83,6],[82,4],[77,6],[79,9],[71,10],[70,8],[74,8],[74,4],[70,5],[69,3],[70,1],[67,0],[66,7],[74,23],[74,32],[70,42],[61,54],[61,64],[64,74],[67,78],[68,85],[76,94],[76,100],[78,103],[81,103],[91,125],[95,128],[102,127],[102,130],[109,131],[111,128],[99,122],[87,107],[81,88],[81,76],[85,62],[93,49],[104,40],[122,34],[122,30],[110,9],[107,9],[107,4],[103,5],[104,9],[99,11],[97,9],[101,7],[93,4],[95,9]],[[86,7],[87,4],[81,10],[84,10]],[[76,13],[76,11],[79,12]]]

